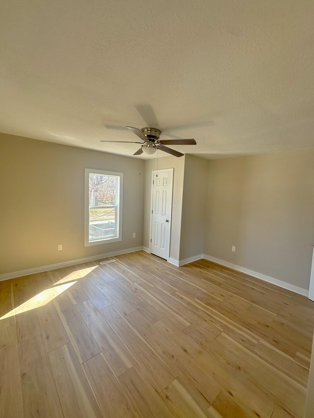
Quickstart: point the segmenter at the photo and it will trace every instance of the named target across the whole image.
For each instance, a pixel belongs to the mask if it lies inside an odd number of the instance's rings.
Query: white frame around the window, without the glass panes
[[[117,234],[114,237],[104,238],[99,240],[89,241],[89,174],[102,174],[119,177],[118,180],[118,193],[117,193],[117,211],[115,213],[116,218],[116,231]],[[122,197],[123,197],[123,173],[122,172],[109,172],[105,170],[93,170],[85,169],[85,204],[84,204],[84,242],[85,246],[95,246],[101,244],[114,243],[122,241]],[[115,207],[115,206],[114,206]]]

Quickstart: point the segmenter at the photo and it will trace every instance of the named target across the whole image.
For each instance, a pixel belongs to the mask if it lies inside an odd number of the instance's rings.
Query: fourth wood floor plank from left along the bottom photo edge
[[[83,368],[104,417],[139,418],[103,353],[87,360]]]

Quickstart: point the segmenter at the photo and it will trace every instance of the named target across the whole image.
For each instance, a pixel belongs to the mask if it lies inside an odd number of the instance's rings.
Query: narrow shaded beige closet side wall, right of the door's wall
[[[209,160],[185,155],[180,260],[203,254]]]

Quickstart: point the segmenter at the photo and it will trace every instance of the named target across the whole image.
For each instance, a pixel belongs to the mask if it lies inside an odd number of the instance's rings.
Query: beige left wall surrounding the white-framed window
[[[143,165],[0,134],[0,274],[142,246]],[[85,168],[124,173],[121,242],[84,246]]]

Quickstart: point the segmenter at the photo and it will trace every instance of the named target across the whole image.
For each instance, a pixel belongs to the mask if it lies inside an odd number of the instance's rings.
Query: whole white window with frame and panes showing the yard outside
[[[122,240],[123,173],[85,169],[85,246]]]

